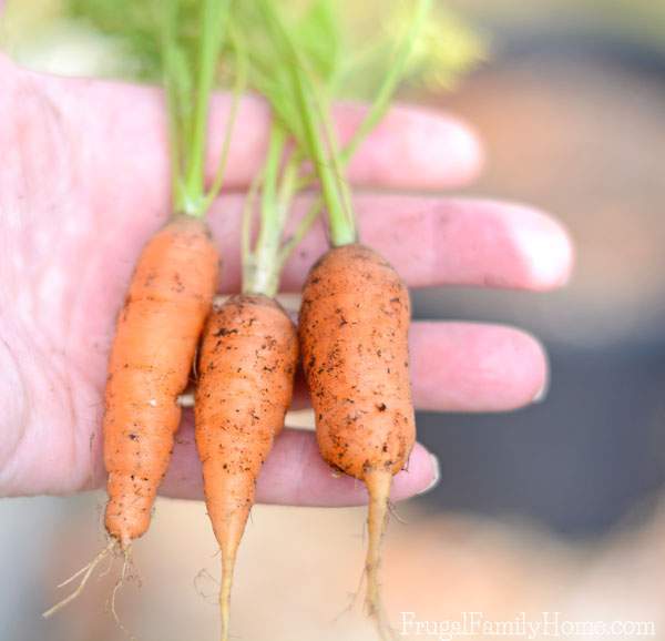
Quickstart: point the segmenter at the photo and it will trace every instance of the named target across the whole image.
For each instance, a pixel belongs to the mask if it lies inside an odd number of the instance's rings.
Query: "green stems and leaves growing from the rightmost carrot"
[[[342,79],[352,72],[352,48],[342,38],[342,13],[340,3],[334,0],[314,0],[297,17],[293,6],[272,0],[255,0],[243,4],[250,19],[244,24],[260,24],[257,31],[247,31],[247,40],[259,40],[250,47],[249,82],[270,102],[275,118],[285,126],[297,144],[293,162],[311,162],[318,180],[321,200],[326,205],[330,241],[345,245],[357,241],[356,220],[350,191],[344,177],[344,166],[360,142],[371,132],[386,113],[399,82],[409,69],[410,55],[423,32],[430,16],[431,0],[416,0],[412,11],[399,33],[397,45],[392,43],[391,55],[386,58],[382,81],[376,90],[370,108],[351,140],[341,149],[331,118],[331,101],[341,87]],[[267,169],[277,167],[268,163]],[[287,165],[289,182],[293,167]],[[272,170],[270,170],[272,171]],[[297,169],[295,170],[297,171]],[[289,190],[293,196],[297,189],[311,182],[305,176]],[[318,213],[320,202],[303,225],[310,224]],[[304,233],[300,227],[295,238]],[[279,267],[293,248],[293,238],[278,254]],[[260,255],[260,254],[259,254]],[[250,260],[249,260],[250,262]]]

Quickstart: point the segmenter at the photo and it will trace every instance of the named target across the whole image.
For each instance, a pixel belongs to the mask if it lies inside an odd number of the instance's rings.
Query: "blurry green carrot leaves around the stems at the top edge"
[[[134,64],[133,77],[161,82],[160,55],[162,17],[171,0],[62,0],[63,16],[122,42]],[[196,50],[202,0],[178,0],[177,35],[185,52]],[[395,44],[410,23],[415,0],[272,0],[294,37],[303,58],[316,75],[330,80],[330,90],[351,99],[370,99],[390,70]],[[273,45],[262,29],[263,12],[257,3],[234,3],[234,23],[253,51],[255,85],[275,69]],[[482,39],[462,17],[444,2],[437,2],[428,24],[415,43],[407,78],[429,90],[449,89],[456,80],[485,55]],[[232,64],[222,60],[219,85],[234,77]],[[263,69],[263,78],[262,78]],[[270,83],[266,83],[269,90]],[[274,84],[277,84],[275,82]],[[262,85],[263,87],[263,85]]]

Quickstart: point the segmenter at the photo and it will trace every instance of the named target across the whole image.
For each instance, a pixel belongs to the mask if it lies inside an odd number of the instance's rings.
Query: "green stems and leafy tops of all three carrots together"
[[[10,0],[10,7],[16,2]],[[432,0],[61,3],[63,19],[117,45],[114,51],[126,58],[119,67],[126,77],[164,87],[174,213],[205,215],[224,183],[239,94],[249,87],[267,99],[273,122],[264,166],[246,203],[243,255],[245,291],[269,295],[286,258],[324,206],[331,243],[357,240],[345,166],[400,83],[448,88],[483,54],[467,24]],[[232,89],[235,99],[219,165],[207,184],[206,134],[215,88]],[[370,102],[344,145],[331,116],[332,101],[340,98]],[[294,197],[315,182],[320,196],[285,238]]]

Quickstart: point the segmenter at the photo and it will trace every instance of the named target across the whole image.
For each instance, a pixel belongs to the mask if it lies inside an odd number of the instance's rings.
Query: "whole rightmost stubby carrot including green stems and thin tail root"
[[[287,11],[260,1],[270,40],[285,60],[289,109],[278,111],[310,161],[320,196],[313,212],[325,205],[332,248],[313,267],[303,293],[299,340],[305,378],[316,415],[320,452],[335,468],[362,480],[369,492],[369,541],[365,564],[366,609],[382,638],[392,637],[379,589],[380,543],[386,529],[392,476],[408,460],[416,438],[408,368],[410,304],[395,269],[372,250],[360,245],[345,165],[359,143],[386,113],[410,53],[427,23],[431,0],[417,2],[407,21],[403,41],[354,136],[342,147],[336,136],[330,90],[335,72],[320,64],[310,42],[332,45],[334,10],[323,0],[309,14],[311,33]],[[325,20],[321,17],[325,16]],[[307,19],[305,19],[307,20]],[[330,35],[330,34],[328,34]],[[269,87],[269,83],[268,83]],[[280,96],[282,98],[282,96]],[[293,114],[298,122],[291,122]],[[313,214],[314,215],[314,214]],[[307,214],[304,221],[310,221]],[[296,232],[294,237],[299,238]]]

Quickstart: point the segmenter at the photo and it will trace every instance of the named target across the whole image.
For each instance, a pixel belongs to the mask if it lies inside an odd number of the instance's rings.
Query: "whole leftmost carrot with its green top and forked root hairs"
[[[217,285],[219,256],[204,221],[224,183],[245,77],[239,71],[231,74],[234,100],[218,166],[208,181],[211,96],[223,50],[236,49],[228,37],[231,2],[168,0],[150,7],[125,2],[120,12],[116,3],[68,0],[65,4],[72,16],[121,38],[133,50],[142,80],[163,83],[168,116],[172,217],[139,257],[109,360],[103,431],[109,472],[105,526],[111,541],[62,583],[82,577],[74,592],[44,612],[50,617],[75,599],[101,561],[120,548],[125,560],[111,597],[119,622],[115,594],[126,578],[131,542],[150,526],[181,420],[177,397],[187,385]]]

